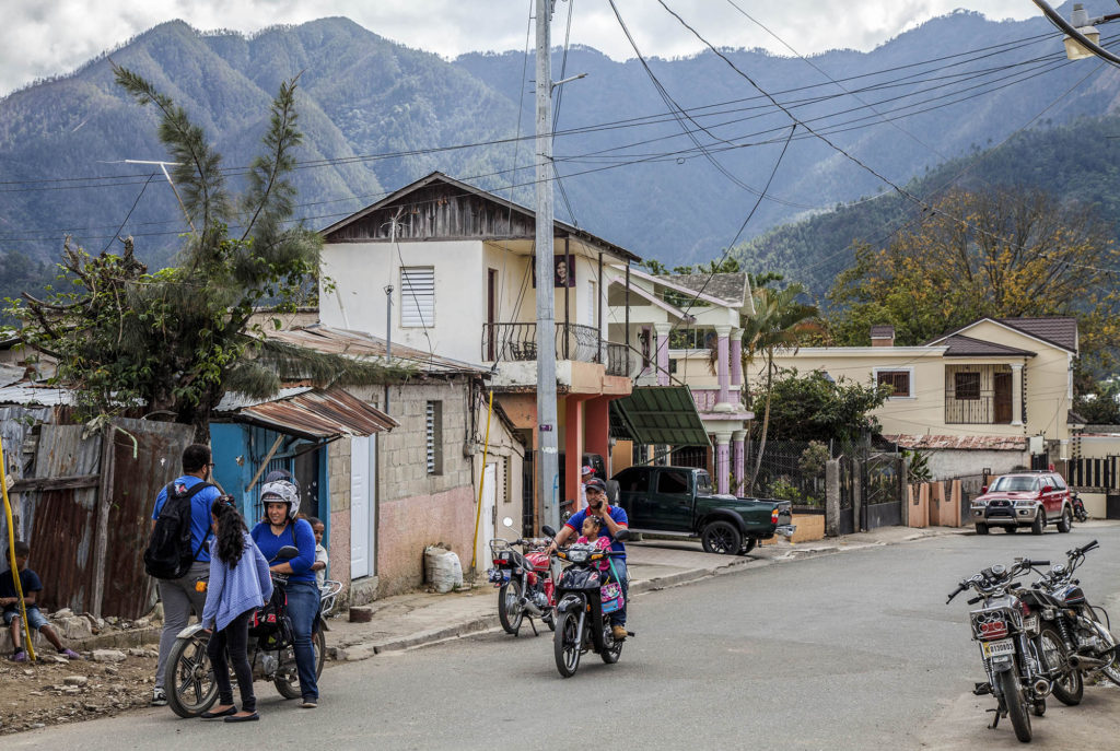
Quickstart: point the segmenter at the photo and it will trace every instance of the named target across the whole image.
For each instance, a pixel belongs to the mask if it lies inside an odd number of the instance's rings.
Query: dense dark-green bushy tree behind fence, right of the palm
[[[769,433],[778,441],[855,442],[878,432],[871,412],[883,406],[889,393],[889,386],[843,377],[833,382],[822,370],[799,375],[796,369],[781,369],[768,392]],[[766,397],[759,394],[757,398]]]

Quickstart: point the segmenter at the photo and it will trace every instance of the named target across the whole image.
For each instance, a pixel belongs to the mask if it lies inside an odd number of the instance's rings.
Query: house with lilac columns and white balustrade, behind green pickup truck
[[[671,463],[708,468],[719,492],[741,492],[747,424],[743,404],[743,318],[754,315],[745,273],[670,274],[610,270],[609,332],[636,342],[636,385],[689,387],[701,445],[672,447]],[[629,300],[629,315],[625,302]]]

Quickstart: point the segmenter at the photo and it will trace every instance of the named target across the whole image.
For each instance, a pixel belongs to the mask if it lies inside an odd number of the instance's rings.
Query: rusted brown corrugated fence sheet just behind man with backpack
[[[156,603],[155,582],[143,570],[143,550],[151,532],[156,496],[181,475],[183,450],[193,442],[194,431],[189,425],[144,420],[116,419],[113,424],[128,433],[112,431],[113,472],[102,612],[134,619]]]

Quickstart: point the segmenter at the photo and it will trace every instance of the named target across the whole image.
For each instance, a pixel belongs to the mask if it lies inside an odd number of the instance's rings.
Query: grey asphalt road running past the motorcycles
[[[1019,748],[990,697],[955,582],[1016,555],[1063,560],[1096,537],[1082,583],[1120,614],[1120,525],[1042,537],[951,535],[797,560],[642,595],[617,665],[561,679],[544,631],[485,633],[328,669],[318,710],[256,684],[260,723],[166,710],[49,727],[4,749]],[[1051,700],[1034,748],[1114,749],[1120,689]],[[267,740],[265,740],[267,739]],[[1075,741],[1075,742],[1074,742]]]

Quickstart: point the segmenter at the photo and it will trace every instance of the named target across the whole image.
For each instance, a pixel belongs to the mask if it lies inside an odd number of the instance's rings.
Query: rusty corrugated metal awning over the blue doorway
[[[241,422],[311,439],[372,435],[400,423],[342,388],[310,389],[234,410]]]

